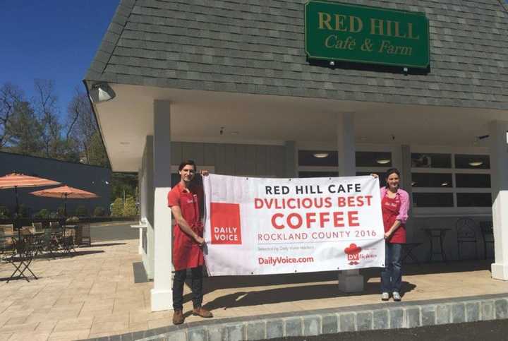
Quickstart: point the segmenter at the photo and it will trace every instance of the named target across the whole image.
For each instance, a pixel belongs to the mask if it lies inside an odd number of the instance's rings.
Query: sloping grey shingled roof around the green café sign
[[[508,109],[503,1],[341,0],[426,13],[430,73],[404,76],[311,66],[302,0],[122,0],[85,80]]]

